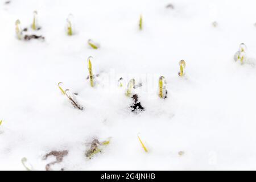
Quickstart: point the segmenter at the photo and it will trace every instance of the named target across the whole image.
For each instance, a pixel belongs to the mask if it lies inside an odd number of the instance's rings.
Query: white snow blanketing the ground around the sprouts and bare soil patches
[[[256,1],[6,0],[0,2],[0,170],[35,170],[68,150],[59,170],[256,169],[256,68],[235,62],[240,43],[256,58]],[[166,8],[172,3],[174,9]],[[15,37],[15,20],[30,28],[38,11],[40,40]],[[67,36],[66,18],[75,20]],[[143,30],[139,31],[139,16]],[[212,22],[218,23],[217,27]],[[100,43],[99,49],[87,40]],[[87,58],[100,73],[92,88]],[[179,77],[179,61],[187,63]],[[168,98],[158,97],[158,80]],[[117,86],[123,77],[125,86]],[[145,110],[134,114],[127,81]],[[79,93],[73,108],[57,87]],[[148,149],[144,152],[137,134]],[[88,142],[110,139],[85,157]],[[183,151],[180,156],[178,153]]]

